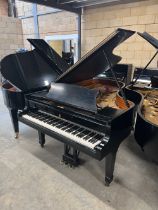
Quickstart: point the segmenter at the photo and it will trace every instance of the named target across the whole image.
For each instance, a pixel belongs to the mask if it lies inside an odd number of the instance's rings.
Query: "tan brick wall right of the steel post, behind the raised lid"
[[[120,4],[98,9],[87,9],[82,17],[82,54],[92,49],[116,28],[147,31],[158,38],[158,1],[148,0],[138,3]],[[144,66],[155,49],[138,35],[129,38],[115,50],[123,57],[122,63]],[[157,66],[158,57],[151,67]]]

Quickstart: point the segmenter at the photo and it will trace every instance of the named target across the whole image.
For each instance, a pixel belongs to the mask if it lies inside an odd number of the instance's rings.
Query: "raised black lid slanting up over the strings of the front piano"
[[[111,66],[114,66],[121,60],[120,56],[113,54],[114,48],[134,33],[135,31],[117,29],[89,53],[83,56],[76,64],[60,75],[56,82],[76,83],[92,79],[96,75],[108,70],[108,60],[111,62]],[[106,59],[107,57],[108,60]]]

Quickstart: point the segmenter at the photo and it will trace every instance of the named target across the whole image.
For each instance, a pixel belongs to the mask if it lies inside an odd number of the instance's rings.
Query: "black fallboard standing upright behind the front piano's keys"
[[[45,100],[39,100],[32,97],[31,99],[27,99],[27,103],[29,104],[28,110],[38,109],[50,114],[55,114],[56,116],[62,116],[74,123],[79,123],[90,129],[110,135],[112,119],[108,116],[103,117],[101,114],[94,115],[83,111],[81,112],[70,107],[57,106],[56,104],[50,104]]]

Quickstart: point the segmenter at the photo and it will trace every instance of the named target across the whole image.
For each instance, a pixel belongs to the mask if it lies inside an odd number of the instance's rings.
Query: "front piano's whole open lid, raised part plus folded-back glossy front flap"
[[[51,84],[49,92],[42,97],[62,105],[65,104],[66,106],[96,113],[96,97],[99,91],[80,87],[75,85],[75,83],[92,79],[103,71],[108,70],[110,68],[109,61],[112,66],[117,64],[121,57],[113,55],[113,49],[134,33],[134,31],[117,29],[111,36],[59,76],[56,83]],[[109,61],[106,60],[107,56]],[[37,96],[37,94],[35,95]]]

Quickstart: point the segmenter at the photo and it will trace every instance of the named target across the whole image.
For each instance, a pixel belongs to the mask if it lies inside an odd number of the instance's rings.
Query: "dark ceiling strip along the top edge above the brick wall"
[[[80,13],[82,8],[95,7],[102,5],[114,5],[130,3],[130,0],[20,0],[30,3],[42,4],[45,6],[54,7],[57,9],[67,10],[70,12]],[[133,0],[132,2],[138,2],[143,0]]]

